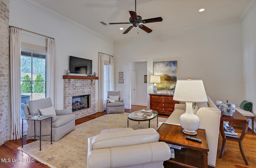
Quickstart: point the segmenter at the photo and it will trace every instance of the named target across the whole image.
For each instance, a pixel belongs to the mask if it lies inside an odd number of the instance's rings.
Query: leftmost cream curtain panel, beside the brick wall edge
[[[10,27],[10,101],[11,140],[20,139],[21,89],[20,89],[20,29]]]

